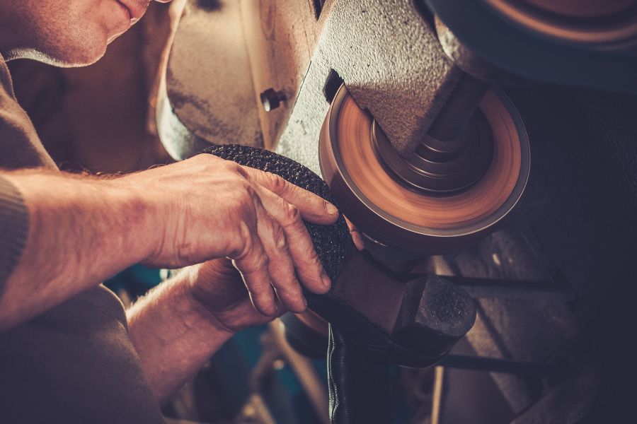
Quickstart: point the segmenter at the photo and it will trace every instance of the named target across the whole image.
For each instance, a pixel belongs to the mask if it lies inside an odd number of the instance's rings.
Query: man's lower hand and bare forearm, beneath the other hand
[[[162,404],[237,331],[274,319],[255,310],[229,259],[181,270],[137,300],[127,318],[144,373]]]

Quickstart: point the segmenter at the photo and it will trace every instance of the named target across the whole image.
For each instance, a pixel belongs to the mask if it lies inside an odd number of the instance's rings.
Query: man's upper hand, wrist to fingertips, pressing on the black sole
[[[303,223],[331,224],[338,218],[321,197],[213,155],[119,181],[151,205],[149,231],[159,232],[159,240],[147,264],[178,267],[228,257],[266,316],[277,314],[277,297],[288,310],[303,311],[301,283],[314,293],[329,290],[331,281]]]

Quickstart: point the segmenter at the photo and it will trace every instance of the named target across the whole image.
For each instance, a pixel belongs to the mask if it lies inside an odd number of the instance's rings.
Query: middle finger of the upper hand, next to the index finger
[[[301,283],[313,293],[326,293],[331,287],[331,281],[323,271],[323,266],[314,250],[314,245],[299,209],[263,187],[258,190],[263,207],[285,233],[287,258],[294,264]],[[279,287],[277,287],[278,289]],[[281,300],[284,305],[292,309],[283,299]]]

